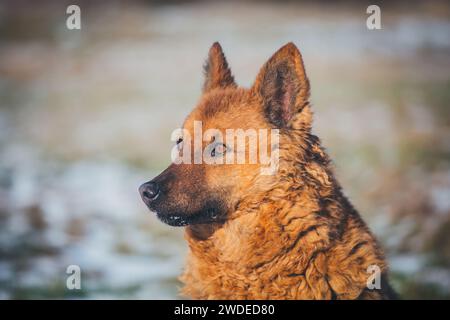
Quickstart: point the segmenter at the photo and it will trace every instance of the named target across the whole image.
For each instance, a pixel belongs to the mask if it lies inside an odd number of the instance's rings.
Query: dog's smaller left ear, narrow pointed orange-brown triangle
[[[204,93],[215,88],[236,87],[222,47],[218,42],[214,42],[209,49],[208,59],[203,70],[205,73]]]

